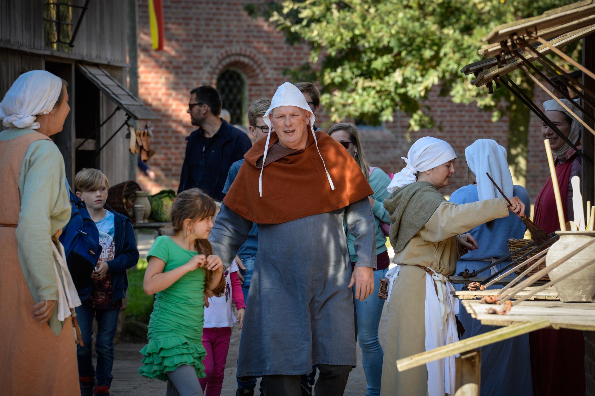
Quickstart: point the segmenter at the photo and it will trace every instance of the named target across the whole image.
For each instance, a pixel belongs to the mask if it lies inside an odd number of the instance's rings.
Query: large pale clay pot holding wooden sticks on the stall
[[[581,245],[586,244],[595,238],[595,232],[569,232],[558,231],[560,239],[550,247],[546,255],[546,266],[555,263],[559,258],[564,257],[569,252],[576,250]],[[595,258],[595,244],[584,249],[565,263],[549,272],[550,279],[556,280],[560,276],[581,266],[587,261]],[[554,285],[556,292],[563,302],[592,302],[595,301],[595,263],[579,272],[567,277]]]

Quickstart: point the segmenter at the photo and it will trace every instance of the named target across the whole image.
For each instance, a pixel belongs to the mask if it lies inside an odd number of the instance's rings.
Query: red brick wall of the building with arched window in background
[[[247,102],[272,96],[286,78],[283,70],[298,66],[308,56],[308,46],[289,46],[284,37],[266,21],[250,18],[243,6],[258,0],[203,1],[200,6],[182,0],[165,0],[165,49],[151,49],[147,0],[139,1],[139,95],[161,116],[152,121],[157,154],[149,165],[157,179],[150,182],[139,174],[139,182],[152,192],[177,188],[184,157],[184,139],[194,129],[186,114],[189,91],[196,86],[215,86],[218,73],[225,68],[241,71],[247,81]],[[478,43],[479,45],[479,43]],[[469,85],[469,89],[477,89]],[[485,88],[482,88],[485,89]],[[505,89],[505,88],[501,88]],[[433,89],[428,99],[431,115],[441,129],[420,130],[405,138],[408,118],[396,114],[384,127],[361,128],[366,155],[372,166],[398,172],[404,165],[409,146],[421,136],[431,135],[453,145],[459,155],[456,174],[444,189],[450,194],[465,185],[465,147],[479,138],[491,138],[508,145],[508,118],[491,122],[491,113],[474,104],[454,104]],[[539,95],[537,95],[540,97]],[[543,96],[543,95],[542,95]],[[317,124],[330,126],[324,109]],[[531,120],[528,163],[528,189],[533,201],[547,175],[543,143],[537,117]]]

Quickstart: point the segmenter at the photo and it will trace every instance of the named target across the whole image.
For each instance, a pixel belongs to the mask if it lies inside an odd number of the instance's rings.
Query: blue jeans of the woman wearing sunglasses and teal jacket
[[[358,319],[358,341],[362,348],[362,364],[368,385],[366,396],[380,395],[382,377],[382,361],[384,353],[378,340],[378,326],[382,316],[382,308],[386,300],[378,298],[380,279],[388,269],[374,271],[374,292],[364,301],[355,300],[355,311]],[[355,292],[355,288],[353,288]]]

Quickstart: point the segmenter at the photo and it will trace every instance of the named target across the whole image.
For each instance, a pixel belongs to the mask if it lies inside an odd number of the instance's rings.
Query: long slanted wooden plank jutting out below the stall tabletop
[[[464,301],[464,304],[469,302],[470,301]],[[466,351],[471,351],[475,348],[480,348],[484,347],[485,345],[494,344],[494,342],[516,337],[525,333],[530,333],[534,330],[545,329],[549,326],[550,323],[547,319],[536,319],[530,322],[516,323],[512,326],[506,326],[502,329],[496,329],[487,333],[472,336],[470,338],[453,342],[452,344],[447,344],[443,347],[435,348],[430,351],[425,351],[412,356],[401,358],[397,360],[397,370],[409,370],[414,367],[422,366],[422,364],[426,364],[430,361],[439,360],[447,356],[456,355],[458,353],[463,353]]]

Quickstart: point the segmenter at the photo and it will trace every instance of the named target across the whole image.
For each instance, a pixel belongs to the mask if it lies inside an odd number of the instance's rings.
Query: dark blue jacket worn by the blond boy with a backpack
[[[114,211],[111,213],[114,214],[115,258],[107,263],[112,277],[114,301],[118,301],[120,298],[126,297],[128,289],[126,270],[136,266],[139,262],[139,250],[136,247],[136,236],[134,236],[130,219]],[[80,301],[89,298],[92,287],[93,280],[89,278],[87,285],[79,291]]]

